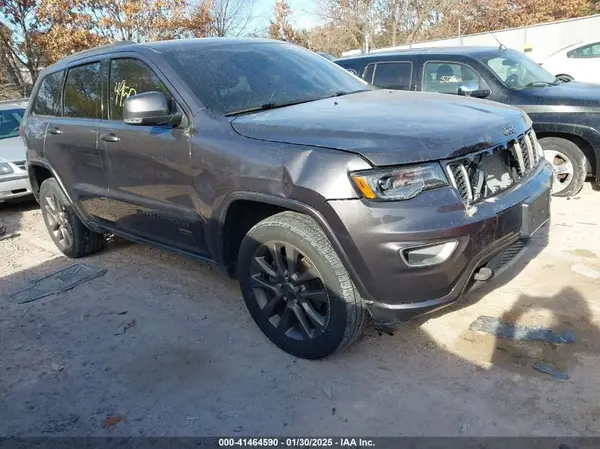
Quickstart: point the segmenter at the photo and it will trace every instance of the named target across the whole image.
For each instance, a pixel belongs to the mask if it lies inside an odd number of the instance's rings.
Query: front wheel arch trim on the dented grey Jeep
[[[325,217],[321,211],[315,209],[313,206],[310,206],[306,203],[303,203],[301,201],[298,201],[298,200],[295,200],[292,198],[286,198],[286,197],[281,197],[281,196],[277,196],[277,195],[271,195],[271,194],[266,194],[266,193],[256,193],[256,192],[238,191],[238,192],[230,193],[223,201],[221,211],[218,215],[218,230],[216,231],[217,232],[216,235],[218,235],[218,239],[217,239],[218,247],[215,248],[215,250],[216,250],[215,254],[217,255],[217,257],[215,259],[218,261],[219,265],[221,265],[222,267],[224,267],[226,269],[226,267],[225,267],[225,265],[226,265],[225,221],[227,219],[227,213],[229,211],[229,207],[234,202],[239,201],[239,200],[255,201],[258,203],[271,204],[273,206],[283,207],[285,209],[299,212],[299,213],[305,214],[305,215],[313,218],[317,222],[317,224],[319,225],[321,230],[325,233],[325,235],[327,236],[329,241],[331,242],[331,245],[333,246],[333,248],[337,252],[338,256],[340,257],[340,260],[346,267],[346,270],[348,270],[348,274],[350,275],[352,282],[354,282],[354,285],[358,289],[362,298],[366,302],[372,302],[371,295],[368,293],[368,291],[365,287],[365,284],[361,280],[361,277],[358,276],[358,271],[357,271],[364,265],[364,261],[362,260],[362,258],[356,257],[356,255],[358,255],[358,249],[356,247],[354,247],[354,244],[352,243],[350,236],[347,235],[347,233],[345,232],[345,229],[343,231],[336,230],[334,232],[330,223],[325,219]],[[328,207],[327,202],[324,202],[322,205],[322,209],[327,209],[327,208],[330,209],[330,213],[335,214],[335,212],[333,212],[333,209],[331,209],[331,207]],[[342,237],[345,240],[345,245],[342,245],[338,236]],[[353,256],[350,256],[348,254],[349,252],[352,252],[355,254],[353,254]],[[364,268],[366,268],[366,267],[364,267]],[[362,271],[364,273],[368,273],[367,270],[362,270]]]

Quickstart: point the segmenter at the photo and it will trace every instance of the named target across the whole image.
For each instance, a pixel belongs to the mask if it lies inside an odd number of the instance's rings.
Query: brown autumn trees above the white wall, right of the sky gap
[[[515,28],[600,12],[600,0],[315,0],[321,25],[291,26],[287,0],[276,0],[269,36],[340,56],[381,48]]]

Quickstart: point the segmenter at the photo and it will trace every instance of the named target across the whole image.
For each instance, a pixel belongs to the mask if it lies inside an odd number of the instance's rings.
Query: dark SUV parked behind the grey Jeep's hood
[[[600,186],[600,86],[565,83],[504,47],[420,48],[335,61],[385,89],[486,98],[527,112],[554,170],[553,194]]]

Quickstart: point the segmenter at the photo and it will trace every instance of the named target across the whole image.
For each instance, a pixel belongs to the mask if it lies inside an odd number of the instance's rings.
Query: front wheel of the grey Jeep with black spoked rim
[[[295,274],[289,276],[288,271],[285,278],[285,270],[291,266],[288,254],[294,267],[290,271]],[[331,243],[310,217],[282,212],[250,229],[238,254],[238,278],[258,327],[291,355],[324,358],[363,334],[368,318],[364,301]],[[304,315],[305,326],[299,313]]]

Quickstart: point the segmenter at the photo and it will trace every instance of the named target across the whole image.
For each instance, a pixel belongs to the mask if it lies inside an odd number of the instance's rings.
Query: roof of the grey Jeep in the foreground
[[[79,53],[75,53],[71,56],[67,56],[56,62],[55,64],[48,66],[44,69],[45,73],[55,72],[63,70],[69,67],[73,62],[79,60],[110,54],[116,51],[136,51],[136,50],[150,50],[156,53],[166,53],[173,50],[186,50],[193,48],[202,47],[214,47],[214,46],[239,46],[246,44],[256,43],[279,43],[284,44],[283,41],[276,41],[272,39],[255,39],[255,38],[227,38],[227,37],[213,37],[213,38],[199,38],[199,39],[175,39],[169,41],[158,41],[158,42],[144,42],[137,43],[131,41],[119,41],[108,45],[102,45],[100,47],[84,50]]]

